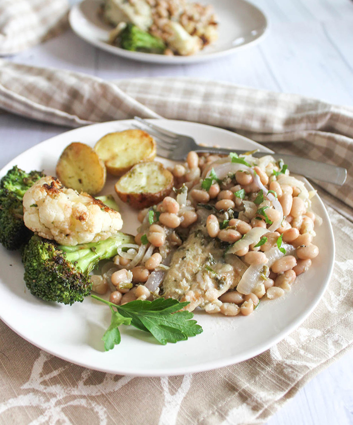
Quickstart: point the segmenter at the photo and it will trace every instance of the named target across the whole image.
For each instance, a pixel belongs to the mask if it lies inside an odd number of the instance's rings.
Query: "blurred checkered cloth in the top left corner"
[[[17,53],[60,33],[67,0],[0,0],[0,56]]]

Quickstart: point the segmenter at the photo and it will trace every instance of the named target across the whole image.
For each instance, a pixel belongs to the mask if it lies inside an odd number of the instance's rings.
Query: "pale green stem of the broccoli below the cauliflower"
[[[88,274],[100,260],[114,257],[120,245],[131,244],[133,241],[133,236],[119,232],[99,242],[91,242],[90,244],[76,245],[74,247],[61,245],[58,249],[66,253],[68,261],[74,263],[83,273]]]

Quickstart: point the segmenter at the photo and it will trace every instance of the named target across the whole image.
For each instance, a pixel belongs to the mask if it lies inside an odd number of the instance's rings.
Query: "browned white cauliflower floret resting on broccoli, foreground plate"
[[[23,211],[30,230],[69,246],[105,240],[123,225],[119,212],[87,193],[65,188],[51,176],[41,178],[25,193]]]

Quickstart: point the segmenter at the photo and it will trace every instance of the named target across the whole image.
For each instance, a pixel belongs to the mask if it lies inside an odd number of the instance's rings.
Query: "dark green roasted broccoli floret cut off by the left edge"
[[[0,243],[8,250],[17,250],[32,234],[23,223],[22,198],[43,175],[14,166],[0,180]]]

